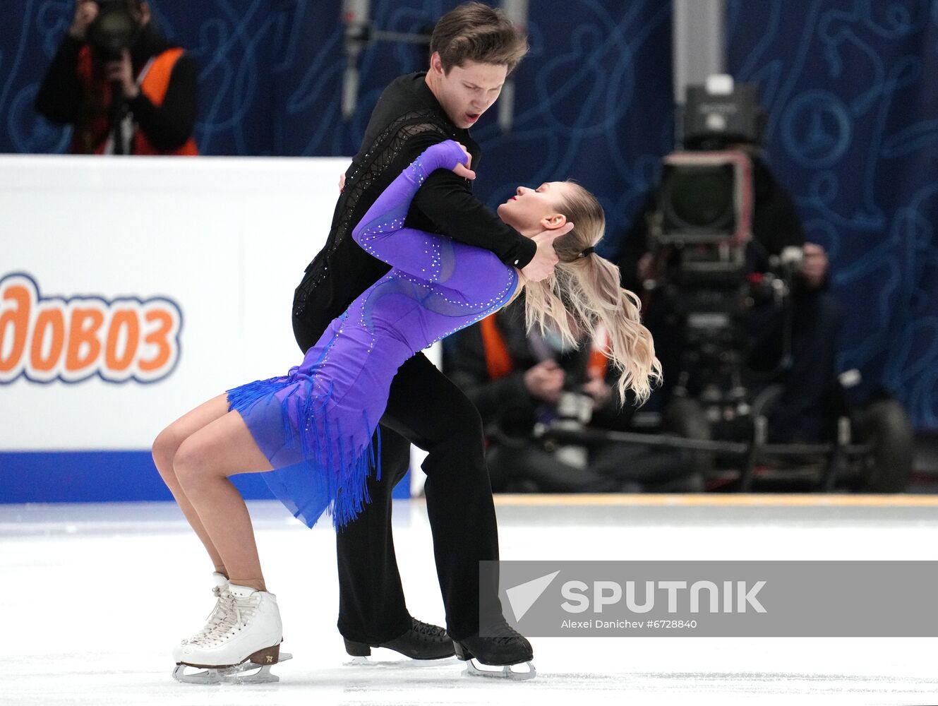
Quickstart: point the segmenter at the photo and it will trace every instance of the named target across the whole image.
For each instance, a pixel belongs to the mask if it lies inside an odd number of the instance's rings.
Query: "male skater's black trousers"
[[[297,316],[294,333],[304,351],[319,338]],[[380,435],[381,480],[369,480],[371,502],[336,535],[339,632],[378,643],[411,625],[391,535],[391,491],[407,471],[414,443],[428,453],[427,514],[446,630],[454,639],[474,635],[480,620],[488,624],[501,616],[497,587],[479,586],[478,562],[498,559],[498,529],[476,407],[417,353],[391,383]]]

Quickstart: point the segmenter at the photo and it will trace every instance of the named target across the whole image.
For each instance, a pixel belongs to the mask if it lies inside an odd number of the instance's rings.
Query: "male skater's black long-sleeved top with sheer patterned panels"
[[[388,270],[350,237],[352,228],[386,187],[429,146],[460,142],[478,168],[481,150],[468,130],[446,116],[425,82],[423,72],[401,76],[387,86],[365,130],[362,146],[345,173],[345,188],[323,250],[296,288],[294,315],[311,330],[329,322]],[[406,225],[439,233],[493,253],[507,265],[523,268],[536,244],[503,223],[473,195],[471,183],[437,170],[416,193]]]

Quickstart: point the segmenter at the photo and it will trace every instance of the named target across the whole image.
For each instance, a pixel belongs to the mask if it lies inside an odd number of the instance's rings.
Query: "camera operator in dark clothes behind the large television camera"
[[[787,268],[792,279],[788,315],[771,299],[756,299],[747,321],[750,370],[774,371],[782,384],[769,414],[769,440],[817,441],[823,434],[825,397],[836,378],[840,331],[840,306],[827,292],[827,254],[821,245],[805,241],[794,199],[773,176],[758,147],[723,148],[746,152],[752,164],[752,240],[746,253],[750,281],[757,282],[773,266]],[[649,252],[648,223],[656,207],[656,193],[651,192],[620,251],[623,286],[634,291],[643,291],[643,283],[655,280],[664,266]],[[658,342],[666,401],[680,366],[680,337],[663,302],[653,293],[646,299],[644,322]]]

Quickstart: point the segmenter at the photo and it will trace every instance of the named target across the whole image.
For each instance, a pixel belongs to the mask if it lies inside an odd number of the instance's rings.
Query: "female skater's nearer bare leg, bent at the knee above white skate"
[[[248,507],[228,476],[271,470],[237,412],[192,433],[173,459],[176,480],[232,583],[265,591]]]

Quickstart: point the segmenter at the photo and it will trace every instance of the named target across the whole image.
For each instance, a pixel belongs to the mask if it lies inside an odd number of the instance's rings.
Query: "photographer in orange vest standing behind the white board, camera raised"
[[[73,154],[197,155],[195,63],[140,0],[75,0],[36,110],[71,124]]]

